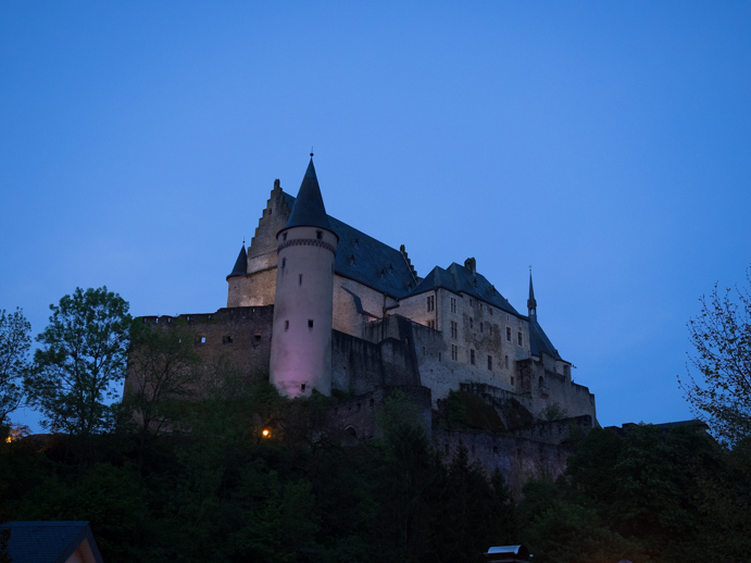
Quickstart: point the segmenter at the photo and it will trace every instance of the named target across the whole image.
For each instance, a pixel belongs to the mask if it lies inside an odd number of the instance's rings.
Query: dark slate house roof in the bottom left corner
[[[8,522],[8,551],[13,563],[64,563],[87,539],[93,559],[102,563],[88,522]]]

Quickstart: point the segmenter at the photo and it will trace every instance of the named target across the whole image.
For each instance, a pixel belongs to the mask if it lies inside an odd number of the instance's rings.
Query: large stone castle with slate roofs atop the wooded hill
[[[537,417],[554,408],[565,421],[514,428],[506,416],[505,438],[458,438],[440,428],[433,438],[447,452],[458,439],[481,442],[495,458],[483,460],[475,446],[472,453],[488,466],[547,455],[555,459],[553,473],[562,471],[565,452],[523,449],[530,440],[560,445],[572,418],[591,428],[594,396],[572,381],[572,363],[542,330],[531,273],[526,315],[473,258],[420,277],[404,246],[397,250],[327,215],[312,157],[297,198],[274,182],[251,243],[226,278],[226,309],[180,315],[196,330],[199,354],[228,358],[250,376],[267,374],[289,397],[346,393],[353,399],[337,417],[355,438],[373,435],[377,404],[393,387],[423,405],[428,427],[451,391],[481,397],[502,418],[509,404]]]

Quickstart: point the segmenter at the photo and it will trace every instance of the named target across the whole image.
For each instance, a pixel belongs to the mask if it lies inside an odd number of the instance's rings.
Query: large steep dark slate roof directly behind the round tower
[[[285,192],[285,199],[293,215],[296,198]],[[338,274],[395,298],[402,298],[415,288],[417,280],[399,250],[330,215],[326,217],[329,225],[326,228],[339,237],[334,262]]]

